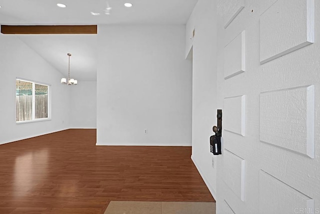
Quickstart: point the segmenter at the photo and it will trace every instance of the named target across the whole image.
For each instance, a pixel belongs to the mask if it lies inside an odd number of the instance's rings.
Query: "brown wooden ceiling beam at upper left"
[[[1,25],[3,34],[96,34],[97,25]]]

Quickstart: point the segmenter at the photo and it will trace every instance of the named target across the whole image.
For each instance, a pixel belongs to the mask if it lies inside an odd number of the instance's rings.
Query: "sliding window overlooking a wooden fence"
[[[49,119],[50,85],[15,79],[15,121],[37,121]]]

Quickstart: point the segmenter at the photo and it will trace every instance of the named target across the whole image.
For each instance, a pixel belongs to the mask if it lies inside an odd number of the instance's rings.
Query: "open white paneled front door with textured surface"
[[[320,1],[217,14],[217,213],[320,213]]]

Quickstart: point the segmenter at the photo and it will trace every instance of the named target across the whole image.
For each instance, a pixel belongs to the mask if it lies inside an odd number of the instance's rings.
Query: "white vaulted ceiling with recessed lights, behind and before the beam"
[[[130,2],[132,7],[123,4]],[[0,0],[0,24],[185,24],[197,0]],[[65,8],[56,3],[63,3]],[[111,7],[109,10],[105,10]],[[107,13],[109,14],[105,14]],[[100,13],[100,15],[92,15]],[[96,34],[16,35],[61,73],[96,79]]]

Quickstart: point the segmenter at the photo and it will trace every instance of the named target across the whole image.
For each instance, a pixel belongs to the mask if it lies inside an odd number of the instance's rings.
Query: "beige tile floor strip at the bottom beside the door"
[[[215,214],[215,202],[111,201],[104,214]]]

